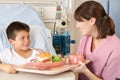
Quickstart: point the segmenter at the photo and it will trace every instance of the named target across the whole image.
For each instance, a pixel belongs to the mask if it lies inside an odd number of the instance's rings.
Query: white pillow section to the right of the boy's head
[[[41,27],[40,25],[30,25],[30,35],[32,48],[40,48],[44,51],[55,54],[55,50],[52,45],[52,37],[49,29]]]

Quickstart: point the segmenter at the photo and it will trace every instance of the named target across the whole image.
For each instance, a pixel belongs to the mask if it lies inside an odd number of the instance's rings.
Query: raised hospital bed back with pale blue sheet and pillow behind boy
[[[36,10],[25,4],[0,4],[0,52],[12,48],[6,37],[6,27],[13,21],[21,21],[30,26],[32,48],[40,48],[55,54],[52,45],[51,31],[46,28]]]

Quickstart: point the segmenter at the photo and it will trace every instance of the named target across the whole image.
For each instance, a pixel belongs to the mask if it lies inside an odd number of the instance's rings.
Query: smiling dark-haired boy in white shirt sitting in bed
[[[12,22],[7,30],[7,37],[12,49],[6,48],[0,53],[0,70],[7,73],[16,73],[13,65],[20,65],[30,62],[39,52],[29,48],[30,28],[22,22]]]

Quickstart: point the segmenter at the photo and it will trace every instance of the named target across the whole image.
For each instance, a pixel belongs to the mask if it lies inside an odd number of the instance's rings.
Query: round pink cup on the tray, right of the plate
[[[79,61],[85,61],[84,57],[81,54],[71,54],[68,58],[70,64],[78,64]]]

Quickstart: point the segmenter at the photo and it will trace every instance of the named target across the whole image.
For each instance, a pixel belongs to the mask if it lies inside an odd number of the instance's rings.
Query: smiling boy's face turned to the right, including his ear
[[[14,46],[15,50],[26,51],[29,49],[30,45],[30,35],[29,32],[24,30],[17,32],[15,40],[9,40],[10,43]]]

